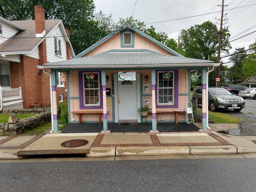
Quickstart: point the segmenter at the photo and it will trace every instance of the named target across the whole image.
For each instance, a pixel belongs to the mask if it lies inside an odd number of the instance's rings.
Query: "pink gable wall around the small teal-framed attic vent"
[[[107,41],[100,44],[98,47],[94,48],[93,50],[89,51],[82,57],[88,57],[92,55],[96,55],[111,49],[148,49],[158,53],[162,53],[165,55],[172,55],[169,51],[165,50],[164,48],[159,47],[157,44],[151,42],[144,36],[139,35],[138,33],[134,32],[134,48],[122,48],[121,47],[121,32],[112,36]]]

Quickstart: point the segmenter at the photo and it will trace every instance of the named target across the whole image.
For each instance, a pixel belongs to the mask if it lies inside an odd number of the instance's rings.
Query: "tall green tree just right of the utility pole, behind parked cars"
[[[233,66],[229,68],[228,78],[231,80],[232,84],[237,84],[243,82],[246,78],[243,72],[243,60],[246,58],[246,52],[238,53],[244,51],[245,48],[236,48],[234,53],[229,59],[232,61]]]

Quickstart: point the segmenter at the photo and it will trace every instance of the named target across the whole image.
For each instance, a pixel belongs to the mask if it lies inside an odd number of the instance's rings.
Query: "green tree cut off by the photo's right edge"
[[[247,52],[247,54],[256,53],[256,42],[249,45],[249,48],[254,48]],[[256,75],[256,54],[248,55],[246,59],[242,60],[243,72],[245,78]]]

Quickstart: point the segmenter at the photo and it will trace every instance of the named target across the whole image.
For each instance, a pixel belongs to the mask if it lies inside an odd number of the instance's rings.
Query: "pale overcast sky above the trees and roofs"
[[[111,13],[115,22],[117,22],[120,17],[126,18],[133,14],[133,3],[135,3],[135,1],[136,0],[94,0],[96,12],[102,10],[104,13]],[[144,21],[145,23],[153,23],[203,14],[205,12],[221,11],[221,7],[217,6],[218,4],[221,5],[221,0],[137,0],[134,10],[134,19]],[[234,7],[252,4],[256,4],[256,0],[225,0],[225,5],[228,5],[225,9],[232,9]],[[256,25],[256,5],[234,9],[224,13],[228,13],[227,17],[229,18],[230,24],[225,25],[229,25],[231,38],[232,36],[236,36],[237,34]],[[199,22],[198,24],[201,24],[208,20],[216,23],[217,20],[215,17],[220,18],[220,12],[209,14],[206,17],[201,16],[178,21],[164,22],[153,24],[153,26],[156,27],[157,31],[166,32],[171,38],[177,39],[177,36],[182,29],[189,28],[191,24],[194,25],[197,24],[197,22]],[[255,30],[256,27],[232,38],[231,40]],[[231,42],[232,49],[230,52],[232,53],[233,50],[238,47],[248,48],[248,45],[255,42],[255,39],[256,33]],[[223,61],[228,61],[228,58],[225,60],[223,59]]]

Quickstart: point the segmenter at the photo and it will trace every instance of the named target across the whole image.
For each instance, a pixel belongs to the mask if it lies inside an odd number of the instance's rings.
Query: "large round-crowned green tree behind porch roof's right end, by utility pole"
[[[221,50],[229,53],[231,45],[229,43],[230,33],[222,33]],[[189,29],[181,31],[181,50],[185,57],[208,60],[216,59],[218,52],[218,28],[210,21],[203,24],[196,24]]]

